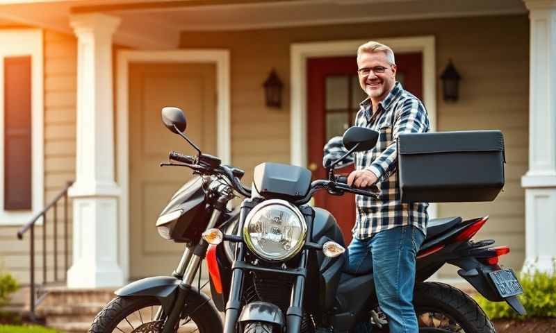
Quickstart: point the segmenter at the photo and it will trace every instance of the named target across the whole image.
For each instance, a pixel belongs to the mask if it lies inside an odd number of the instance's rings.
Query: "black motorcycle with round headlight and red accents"
[[[378,196],[334,174],[334,164],[373,148],[377,132],[349,128],[343,135],[347,153],[330,166],[327,179],[311,182],[308,169],[267,162],[255,167],[249,188],[240,181],[244,171],[191,142],[179,108],[163,108],[162,119],[197,151],[196,157],[172,151],[170,162],[161,164],[194,173],[156,221],[161,237],[184,243],[186,249],[172,276],[146,278],[115,291],[89,332],[388,332],[373,275],[343,272],[345,245],[336,219],[308,204],[323,189],[331,195]],[[234,192],[245,198],[239,210],[231,211],[227,205]],[[514,271],[498,265],[509,248],[491,247],[491,239],[471,240],[487,220],[453,217],[428,223],[416,259],[419,332],[495,332],[466,293],[425,282],[447,263],[459,267],[459,275],[485,298],[505,301],[525,314],[517,298],[523,288]],[[203,259],[211,298],[194,287]],[[219,311],[225,313],[223,323]]]

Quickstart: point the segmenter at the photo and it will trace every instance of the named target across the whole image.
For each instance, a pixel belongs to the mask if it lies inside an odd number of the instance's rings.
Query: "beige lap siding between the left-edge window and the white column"
[[[44,203],[49,203],[75,178],[76,39],[71,35],[44,32]],[[58,205],[58,276],[64,274],[63,201]],[[68,203],[69,234],[72,205]],[[47,274],[54,278],[54,213],[47,216]],[[29,282],[29,232],[17,239],[20,227],[0,228],[0,257],[3,267],[19,283]],[[72,249],[71,237],[68,249]],[[42,226],[35,227],[37,282],[42,282]],[[71,264],[71,257],[68,258]]]

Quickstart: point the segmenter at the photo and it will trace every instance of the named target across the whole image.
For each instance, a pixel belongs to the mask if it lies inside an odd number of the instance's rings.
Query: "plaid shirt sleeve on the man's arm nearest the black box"
[[[398,137],[400,133],[424,133],[429,130],[427,110],[418,99],[408,99],[395,112],[392,128],[393,142],[366,169],[379,181],[389,178],[398,168]]]

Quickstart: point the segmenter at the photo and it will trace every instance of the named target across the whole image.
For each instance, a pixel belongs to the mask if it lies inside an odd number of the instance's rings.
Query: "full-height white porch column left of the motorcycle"
[[[77,36],[77,144],[73,198],[72,288],[124,284],[118,264],[117,211],[120,188],[114,178],[112,35],[120,19],[75,15]]]

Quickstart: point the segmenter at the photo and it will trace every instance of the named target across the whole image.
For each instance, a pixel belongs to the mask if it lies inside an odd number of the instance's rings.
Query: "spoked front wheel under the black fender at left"
[[[97,314],[89,333],[162,332],[165,316],[156,320],[156,312],[160,308],[161,302],[154,297],[118,296]],[[214,307],[206,303],[193,309],[191,314],[182,316],[175,332],[222,332],[222,320]]]

